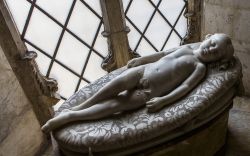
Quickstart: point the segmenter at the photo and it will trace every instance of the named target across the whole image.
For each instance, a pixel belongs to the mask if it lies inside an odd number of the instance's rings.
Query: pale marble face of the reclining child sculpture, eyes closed
[[[213,62],[227,57],[227,42],[224,34],[215,34],[204,40],[195,51],[202,62]]]

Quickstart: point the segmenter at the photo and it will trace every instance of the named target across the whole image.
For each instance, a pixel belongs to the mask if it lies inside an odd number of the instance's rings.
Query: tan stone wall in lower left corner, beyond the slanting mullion
[[[0,47],[0,156],[33,156],[43,138],[31,104]]]

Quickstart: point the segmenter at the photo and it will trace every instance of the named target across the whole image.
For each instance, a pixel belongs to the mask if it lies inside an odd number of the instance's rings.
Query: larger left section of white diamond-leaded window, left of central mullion
[[[101,63],[108,53],[101,36],[103,22],[97,0],[6,0],[28,50],[42,74],[58,81],[68,98],[106,74]]]

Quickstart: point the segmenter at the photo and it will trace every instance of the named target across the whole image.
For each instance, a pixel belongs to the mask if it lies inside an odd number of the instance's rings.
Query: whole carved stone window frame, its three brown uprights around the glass
[[[202,1],[184,0],[188,5],[184,16],[187,18],[187,33],[181,44],[200,41]],[[125,23],[122,0],[100,0],[104,32],[107,37],[109,54],[102,67],[112,71],[126,65],[138,54],[131,51]],[[53,116],[52,106],[58,102],[57,82],[43,76],[36,64],[37,54],[28,51],[10,15],[5,1],[0,1],[0,45],[20,85],[30,100],[38,121],[43,125]],[[119,52],[116,52],[119,51]]]

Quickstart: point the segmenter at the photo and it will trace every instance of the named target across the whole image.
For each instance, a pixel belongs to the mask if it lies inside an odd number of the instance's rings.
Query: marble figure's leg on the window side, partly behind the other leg
[[[126,70],[121,75],[117,76],[109,83],[107,83],[103,88],[101,88],[97,93],[95,93],[85,102],[73,107],[72,110],[77,111],[88,108],[96,103],[99,103],[100,101],[117,96],[122,91],[135,88],[139,83],[139,80],[141,79],[141,73],[143,73],[143,71],[144,66]]]

